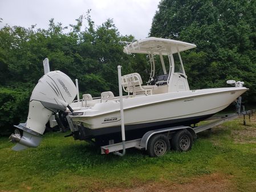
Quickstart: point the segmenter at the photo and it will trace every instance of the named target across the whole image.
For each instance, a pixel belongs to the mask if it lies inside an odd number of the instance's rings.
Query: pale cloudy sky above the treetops
[[[75,19],[91,9],[96,26],[113,19],[122,35],[136,39],[148,36],[153,16],[160,0],[0,0],[0,27],[10,26],[48,28],[54,18],[63,26],[75,24]]]

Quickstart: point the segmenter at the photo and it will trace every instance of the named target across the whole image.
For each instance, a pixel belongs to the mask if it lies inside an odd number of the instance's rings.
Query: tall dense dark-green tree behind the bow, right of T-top
[[[256,103],[256,1],[162,0],[150,35],[197,44],[182,53],[190,87],[223,87],[245,81]]]

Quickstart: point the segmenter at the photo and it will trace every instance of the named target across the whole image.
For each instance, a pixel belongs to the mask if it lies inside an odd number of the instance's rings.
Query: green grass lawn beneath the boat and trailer
[[[124,157],[101,155],[87,142],[64,138],[66,133],[47,133],[38,148],[14,152],[2,137],[0,191],[193,191],[195,182],[204,180],[202,185],[215,182],[224,191],[256,191],[253,118],[247,126],[237,119],[202,132],[189,152],[170,151],[160,158],[136,149],[128,149]]]

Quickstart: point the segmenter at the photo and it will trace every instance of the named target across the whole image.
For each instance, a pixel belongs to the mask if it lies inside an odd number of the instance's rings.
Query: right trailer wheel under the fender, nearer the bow
[[[188,130],[180,130],[172,139],[172,148],[178,152],[186,152],[193,144],[192,134]]]

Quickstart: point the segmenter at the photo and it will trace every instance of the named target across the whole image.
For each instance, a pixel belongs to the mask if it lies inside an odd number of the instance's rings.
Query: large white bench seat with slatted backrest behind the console
[[[122,86],[125,92],[136,94],[152,95],[152,91],[157,89],[156,85],[142,85],[141,76],[139,73],[131,73],[122,76]]]

